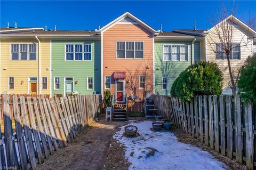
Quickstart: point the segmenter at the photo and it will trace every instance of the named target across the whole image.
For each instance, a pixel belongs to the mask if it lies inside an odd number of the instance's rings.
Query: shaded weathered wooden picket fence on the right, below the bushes
[[[175,127],[195,137],[247,169],[256,166],[256,111],[231,95],[196,96],[190,102],[154,96],[159,114]]]

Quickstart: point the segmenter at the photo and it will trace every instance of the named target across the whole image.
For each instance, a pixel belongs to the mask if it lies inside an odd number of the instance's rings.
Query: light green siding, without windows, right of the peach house
[[[163,61],[163,45],[188,45],[188,61]],[[191,62],[200,60],[200,43],[178,41],[156,41],[155,42],[155,92],[170,95],[173,82],[180,73],[191,65]],[[193,56],[191,58],[191,56]],[[167,90],[162,90],[162,77],[168,77]]]

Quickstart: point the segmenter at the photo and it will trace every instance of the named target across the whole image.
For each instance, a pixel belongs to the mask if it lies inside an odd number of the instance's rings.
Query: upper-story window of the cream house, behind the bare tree
[[[224,52],[223,45],[221,43],[216,44],[215,58],[221,59],[221,60],[227,59],[227,55]],[[232,44],[230,60],[240,60],[240,59],[241,59],[240,44],[234,43]]]

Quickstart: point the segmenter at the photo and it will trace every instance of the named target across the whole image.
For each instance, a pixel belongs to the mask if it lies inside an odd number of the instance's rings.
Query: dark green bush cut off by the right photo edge
[[[245,102],[253,101],[256,104],[256,55],[245,61],[238,80],[240,96]]]

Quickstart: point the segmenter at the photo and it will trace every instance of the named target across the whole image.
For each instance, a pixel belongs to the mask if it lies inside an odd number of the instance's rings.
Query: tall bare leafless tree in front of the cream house
[[[232,51],[237,51],[237,49],[240,49],[241,53],[241,47],[251,43],[253,41],[252,34],[250,34],[250,26],[247,27],[246,30],[243,31],[243,34],[239,35],[239,40],[237,41],[236,31],[238,27],[238,22],[234,17],[234,13],[236,11],[235,5],[231,7],[230,14],[225,7],[225,5],[222,5],[220,10],[217,12],[217,15],[213,17],[212,19],[212,25],[213,28],[209,30],[209,44],[211,47],[211,50],[220,58],[224,59],[221,60],[220,64],[225,65],[223,62],[227,62],[228,66],[228,75],[230,77],[230,80],[228,81],[228,86],[231,88],[233,95],[236,94],[236,87],[238,78],[241,72],[242,64],[239,64],[238,61],[234,62],[231,61],[235,56],[232,55]],[[253,25],[252,21],[250,23]],[[239,52],[236,57],[239,58]]]

